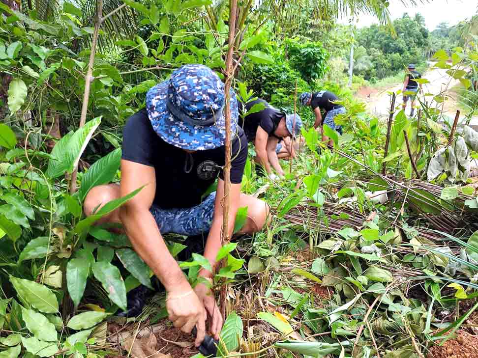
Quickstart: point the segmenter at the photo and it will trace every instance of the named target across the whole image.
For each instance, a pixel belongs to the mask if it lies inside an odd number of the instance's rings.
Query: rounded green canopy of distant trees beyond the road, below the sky
[[[360,66],[356,67],[356,73],[366,80],[378,80],[403,70],[409,63],[426,60],[429,31],[424,27],[423,16],[417,14],[411,18],[404,14],[393,21],[393,27],[396,35],[380,25],[358,30],[359,57],[354,57]]]

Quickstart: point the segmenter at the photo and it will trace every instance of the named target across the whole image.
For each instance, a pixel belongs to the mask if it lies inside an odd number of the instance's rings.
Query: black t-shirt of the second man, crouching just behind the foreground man
[[[248,141],[254,141],[256,138],[257,127],[259,126],[264,129],[269,136],[275,137],[274,132],[277,129],[277,125],[285,116],[285,113],[272,107],[262,99],[246,103],[244,111],[250,110],[257,103],[264,103],[266,108],[259,112],[246,115],[242,122],[239,120],[239,124],[244,129]]]

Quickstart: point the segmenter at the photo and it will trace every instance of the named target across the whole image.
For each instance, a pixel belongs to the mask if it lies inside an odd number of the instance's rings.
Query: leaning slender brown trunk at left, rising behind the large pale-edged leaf
[[[83,127],[85,125],[86,116],[88,113],[88,102],[90,101],[91,77],[93,75],[94,56],[96,54],[96,42],[98,41],[98,34],[99,34],[99,28],[101,26],[102,16],[103,16],[103,0],[98,0],[98,8],[96,10],[94,30],[93,30],[93,40],[91,41],[90,61],[88,62],[88,72],[85,77],[85,92],[83,94],[83,105],[81,108],[80,127]],[[70,194],[73,194],[76,192],[77,174],[78,174],[78,165],[75,166],[75,168],[73,169],[73,173],[71,174]]]

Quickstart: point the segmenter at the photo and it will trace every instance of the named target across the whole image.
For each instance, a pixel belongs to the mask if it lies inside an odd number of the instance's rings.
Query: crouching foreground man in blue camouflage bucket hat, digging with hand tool
[[[238,126],[236,94],[230,91],[232,162],[229,236],[239,207],[247,206],[247,220],[240,233],[251,234],[267,224],[269,207],[240,193],[247,159],[247,138]],[[184,332],[197,328],[195,344],[205,336],[205,321],[216,339],[223,317],[214,295],[204,283],[192,288],[168,251],[163,235],[208,233],[204,256],[212,271],[221,248],[225,164],[224,84],[208,67],[189,64],[171,78],[150,88],[146,109],[128,120],[123,130],[120,185],[93,188],[85,200],[91,215],[105,203],[143,189],[100,223],[121,223],[135,251],[166,289],[166,309],[174,326]],[[203,194],[216,181],[215,193]],[[213,272],[200,276],[212,280]]]

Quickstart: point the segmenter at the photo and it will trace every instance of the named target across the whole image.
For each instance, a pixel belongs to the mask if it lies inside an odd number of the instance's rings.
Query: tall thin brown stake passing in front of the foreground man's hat
[[[229,1],[229,49],[226,57],[226,85],[224,86],[226,103],[225,103],[225,117],[226,117],[226,159],[224,164],[224,197],[222,198],[223,205],[223,220],[222,220],[222,232],[221,243],[225,245],[229,243],[229,208],[231,206],[231,198],[229,192],[231,190],[231,108],[229,107],[230,94],[232,80],[234,77],[233,66],[233,53],[234,53],[234,41],[236,34],[236,13],[237,13],[237,0]],[[221,288],[220,303],[221,314],[226,319],[226,295],[227,285],[223,285]]]

